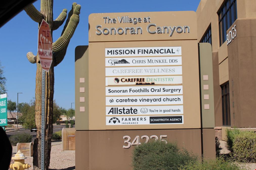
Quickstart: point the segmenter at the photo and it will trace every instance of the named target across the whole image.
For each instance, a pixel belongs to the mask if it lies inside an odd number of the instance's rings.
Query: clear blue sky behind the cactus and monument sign
[[[70,108],[75,101],[74,83],[74,50],[78,45],[88,45],[88,16],[91,13],[105,12],[145,12],[145,11],[196,11],[199,0],[168,0],[168,1],[86,1],[86,0],[55,0],[53,7],[54,19],[62,9],[68,12],[72,3],[81,5],[80,21],[71,38],[63,61],[54,69],[54,99],[59,106]],[[34,6],[40,11],[40,1]],[[53,32],[56,41],[65,23]],[[7,78],[8,99],[17,102],[29,102],[35,97],[36,64],[31,64],[26,57],[27,52],[37,52],[38,23],[27,16],[23,10],[0,28],[0,61],[4,66]],[[73,105],[74,107],[74,105]]]

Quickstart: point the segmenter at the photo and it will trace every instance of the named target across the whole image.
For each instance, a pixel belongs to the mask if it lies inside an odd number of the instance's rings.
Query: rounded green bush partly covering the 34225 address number
[[[176,143],[155,142],[142,143],[134,147],[132,167],[137,169],[176,170],[179,166],[197,158],[185,149],[179,149]]]

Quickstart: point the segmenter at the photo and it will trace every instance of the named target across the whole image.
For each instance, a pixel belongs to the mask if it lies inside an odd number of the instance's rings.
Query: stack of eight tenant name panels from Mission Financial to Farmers
[[[181,54],[180,46],[105,48],[106,125],[183,124]]]

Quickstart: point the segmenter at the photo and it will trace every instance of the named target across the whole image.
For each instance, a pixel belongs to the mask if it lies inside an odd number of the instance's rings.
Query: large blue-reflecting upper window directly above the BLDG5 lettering
[[[237,1],[226,0],[218,12],[220,46],[227,40],[227,30],[237,19]]]

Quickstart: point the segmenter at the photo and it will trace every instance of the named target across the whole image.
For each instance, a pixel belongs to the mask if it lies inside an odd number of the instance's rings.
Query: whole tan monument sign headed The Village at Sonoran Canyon
[[[196,23],[193,11],[89,16],[89,48],[76,48],[75,64],[76,149],[83,147],[88,155],[76,152],[76,166],[131,169],[133,145],[148,140],[176,140],[202,153],[202,120],[207,118],[201,110],[213,105],[200,104]],[[207,50],[211,59],[211,47]],[[214,129],[207,135],[210,146]],[[79,140],[91,143],[90,148]],[[110,152],[122,161],[107,158]]]

